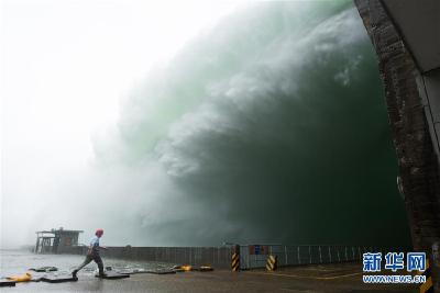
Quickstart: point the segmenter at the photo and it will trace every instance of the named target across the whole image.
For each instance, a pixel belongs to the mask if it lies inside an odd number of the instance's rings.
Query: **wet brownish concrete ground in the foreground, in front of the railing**
[[[417,292],[416,285],[364,284],[359,263],[301,266],[276,272],[179,272],[132,274],[123,280],[84,275],[72,283],[18,283],[1,292]]]

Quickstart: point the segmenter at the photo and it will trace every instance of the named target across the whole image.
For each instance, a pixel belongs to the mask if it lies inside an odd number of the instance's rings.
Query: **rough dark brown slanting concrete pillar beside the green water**
[[[438,142],[417,86],[420,71],[382,2],[354,2],[378,57],[414,249],[432,261],[432,246],[440,241],[440,172]]]

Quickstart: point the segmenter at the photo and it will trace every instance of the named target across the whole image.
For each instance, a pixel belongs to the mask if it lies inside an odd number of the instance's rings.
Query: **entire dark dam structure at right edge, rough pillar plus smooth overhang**
[[[440,2],[355,0],[378,57],[415,250],[440,289]]]

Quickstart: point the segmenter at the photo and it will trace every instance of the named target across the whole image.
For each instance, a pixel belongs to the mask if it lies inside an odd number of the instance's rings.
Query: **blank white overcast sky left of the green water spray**
[[[90,138],[114,124],[120,100],[237,5],[1,1],[2,230],[32,221],[59,179],[87,168]]]

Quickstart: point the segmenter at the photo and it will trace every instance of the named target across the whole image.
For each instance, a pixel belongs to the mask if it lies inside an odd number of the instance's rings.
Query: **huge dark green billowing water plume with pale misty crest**
[[[111,199],[96,216],[112,214],[119,241],[408,243],[376,58],[351,2],[226,18],[152,70],[95,154],[109,177],[92,192]]]

